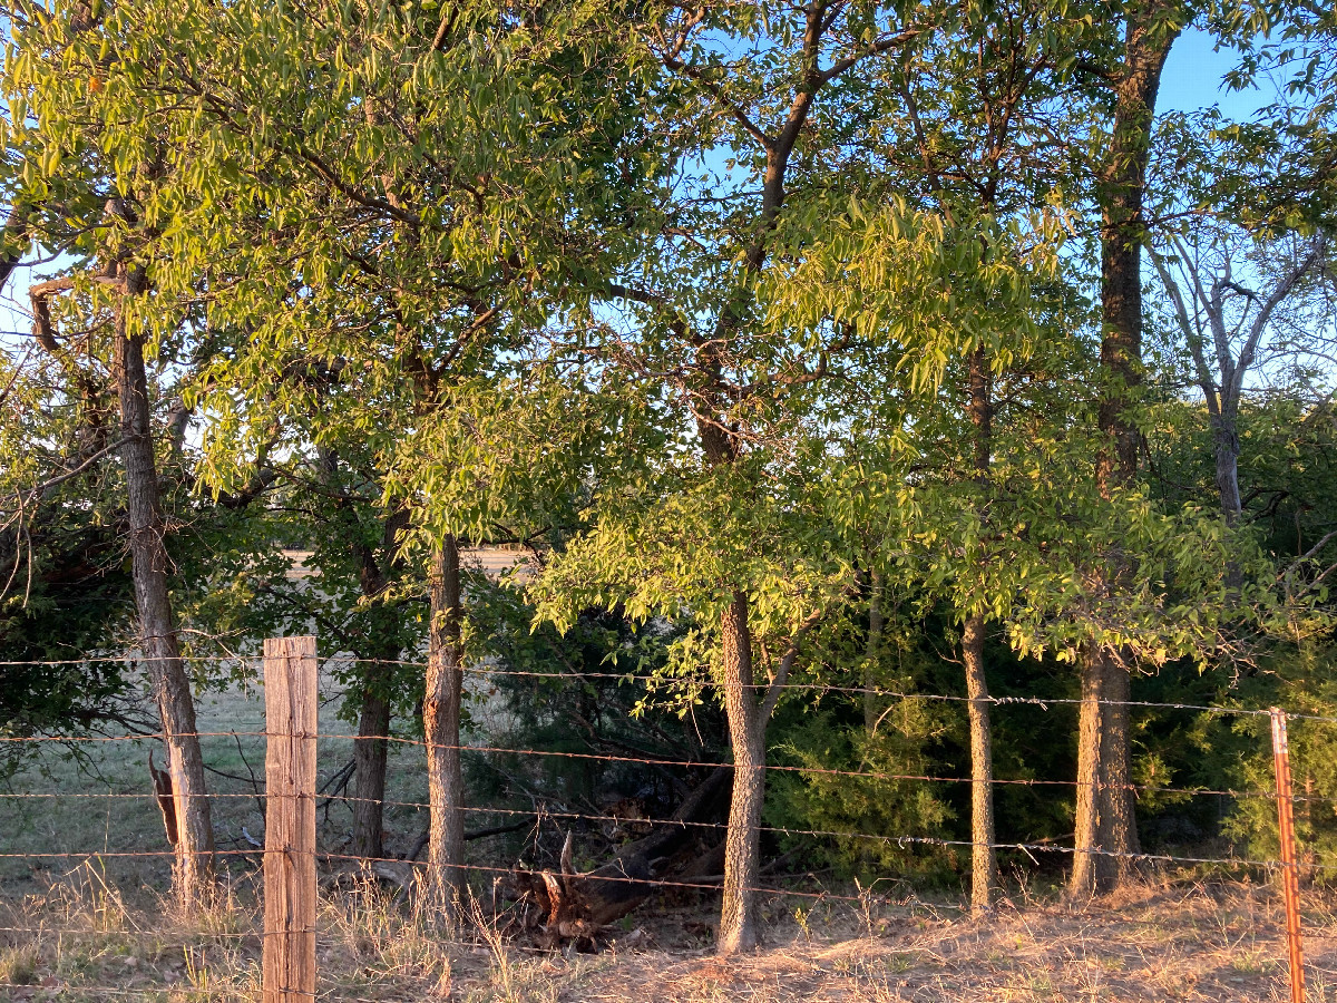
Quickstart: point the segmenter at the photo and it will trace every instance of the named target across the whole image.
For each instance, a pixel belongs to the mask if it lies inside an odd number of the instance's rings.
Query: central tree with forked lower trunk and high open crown
[[[734,191],[749,190],[738,182],[759,191],[722,201],[718,213],[701,213],[679,201],[679,218],[647,221],[646,235],[658,261],[647,259],[644,270],[662,280],[650,286],[619,281],[608,289],[636,316],[646,337],[631,345],[611,342],[606,357],[632,378],[670,372],[668,388],[682,395],[683,417],[695,427],[703,475],[699,481],[683,481],[687,497],[694,497],[693,515],[701,515],[697,506],[706,497],[721,497],[721,489],[757,491],[755,477],[766,463],[761,459],[766,452],[758,445],[775,443],[775,429],[765,425],[767,412],[782,409],[790,391],[801,396],[801,388],[820,380],[828,350],[838,350],[840,336],[824,337],[792,354],[783,338],[767,344],[753,333],[755,286],[775,247],[783,243],[796,156],[804,156],[801,138],[820,95],[861,60],[908,51],[943,16],[937,5],[925,4],[864,19],[864,12],[828,0],[813,0],[775,16],[759,5],[721,12],[668,8],[643,16],[638,31],[648,55],[667,72],[667,107],[675,112],[673,128],[681,132],[685,148],[727,150],[737,175],[731,179]],[[735,58],[730,39],[754,47],[753,55]],[[670,147],[666,159],[677,159],[677,150]],[[690,292],[674,288],[679,259],[697,270]],[[719,294],[702,297],[711,282],[719,284]],[[702,312],[710,321],[698,325],[693,314]],[[753,456],[745,456],[749,452]],[[733,559],[743,552],[735,552]],[[753,621],[755,604],[767,602],[757,591],[765,579],[758,580],[745,564],[730,563],[726,559],[715,564],[717,591],[697,600],[697,611],[717,623],[711,635],[719,647],[711,663],[719,673],[734,758],[719,924],[719,951],[726,955],[757,943],[753,903],[765,793],[765,732],[779,697],[778,689],[759,691],[757,683],[757,642],[762,638]],[[793,603],[796,592],[804,590],[800,586],[786,591]],[[792,619],[781,629],[785,634],[762,641],[777,653],[767,659],[775,681],[787,675],[802,634],[822,614],[821,603],[790,610]]]

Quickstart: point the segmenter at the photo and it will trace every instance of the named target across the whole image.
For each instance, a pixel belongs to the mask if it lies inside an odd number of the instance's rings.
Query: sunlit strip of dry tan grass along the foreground
[[[1309,999],[1334,1000],[1337,900],[1306,893]],[[464,931],[349,875],[326,896],[322,999],[457,1003],[1040,1003],[1289,999],[1285,932],[1262,885],[1144,885],[1071,909],[1004,907],[984,920],[916,899],[868,909],[767,903],[766,945],[731,960],[709,947],[709,904],[650,907],[598,955],[504,941],[479,909]],[[254,889],[162,916],[130,908],[95,865],[0,904],[0,999],[241,1003],[258,995]],[[115,990],[116,992],[108,992]],[[130,994],[126,996],[123,994]]]

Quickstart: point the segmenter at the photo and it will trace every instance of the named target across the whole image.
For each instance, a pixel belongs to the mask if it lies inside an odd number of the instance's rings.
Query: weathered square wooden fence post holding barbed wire
[[[316,998],[316,638],[265,641],[263,1003]]]

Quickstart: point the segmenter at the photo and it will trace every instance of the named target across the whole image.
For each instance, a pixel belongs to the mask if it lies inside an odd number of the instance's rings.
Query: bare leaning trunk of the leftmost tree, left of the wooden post
[[[122,266],[124,267],[124,266]],[[144,290],[144,275],[122,275],[123,297]],[[162,718],[171,777],[171,813],[175,822],[174,885],[183,909],[209,891],[214,867],[214,828],[205,790],[205,760],[195,729],[195,703],[180,661],[176,627],[167,594],[166,526],[158,495],[158,469],[148,416],[148,377],[144,345],[127,333],[124,304],[115,318],[115,369],[120,396],[120,449],[126,467],[126,511],[130,519],[130,555],[139,614],[139,646],[147,663],[154,698]],[[166,810],[166,806],[164,806]]]

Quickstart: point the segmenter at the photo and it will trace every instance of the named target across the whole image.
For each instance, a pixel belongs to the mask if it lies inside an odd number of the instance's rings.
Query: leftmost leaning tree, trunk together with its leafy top
[[[16,95],[17,111],[3,139],[20,159],[17,164],[7,160],[12,173],[5,187],[12,205],[23,207],[29,241],[37,234],[56,235],[51,245],[78,254],[71,278],[37,290],[39,342],[53,344],[56,338],[47,324],[49,310],[39,302],[43,296],[72,289],[76,277],[84,289],[95,290],[102,280],[111,290],[114,377],[120,404],[118,448],[126,477],[139,646],[167,746],[175,887],[180,904],[189,907],[209,891],[214,836],[190,681],[168,598],[170,562],[144,369],[146,328],[135,316],[148,289],[142,198],[159,181],[159,173],[151,147],[136,150],[134,159],[106,158],[96,142],[100,110],[90,108],[83,99],[86,82],[100,72],[94,53],[112,43],[116,33],[116,24],[83,5],[13,21],[4,88]]]

